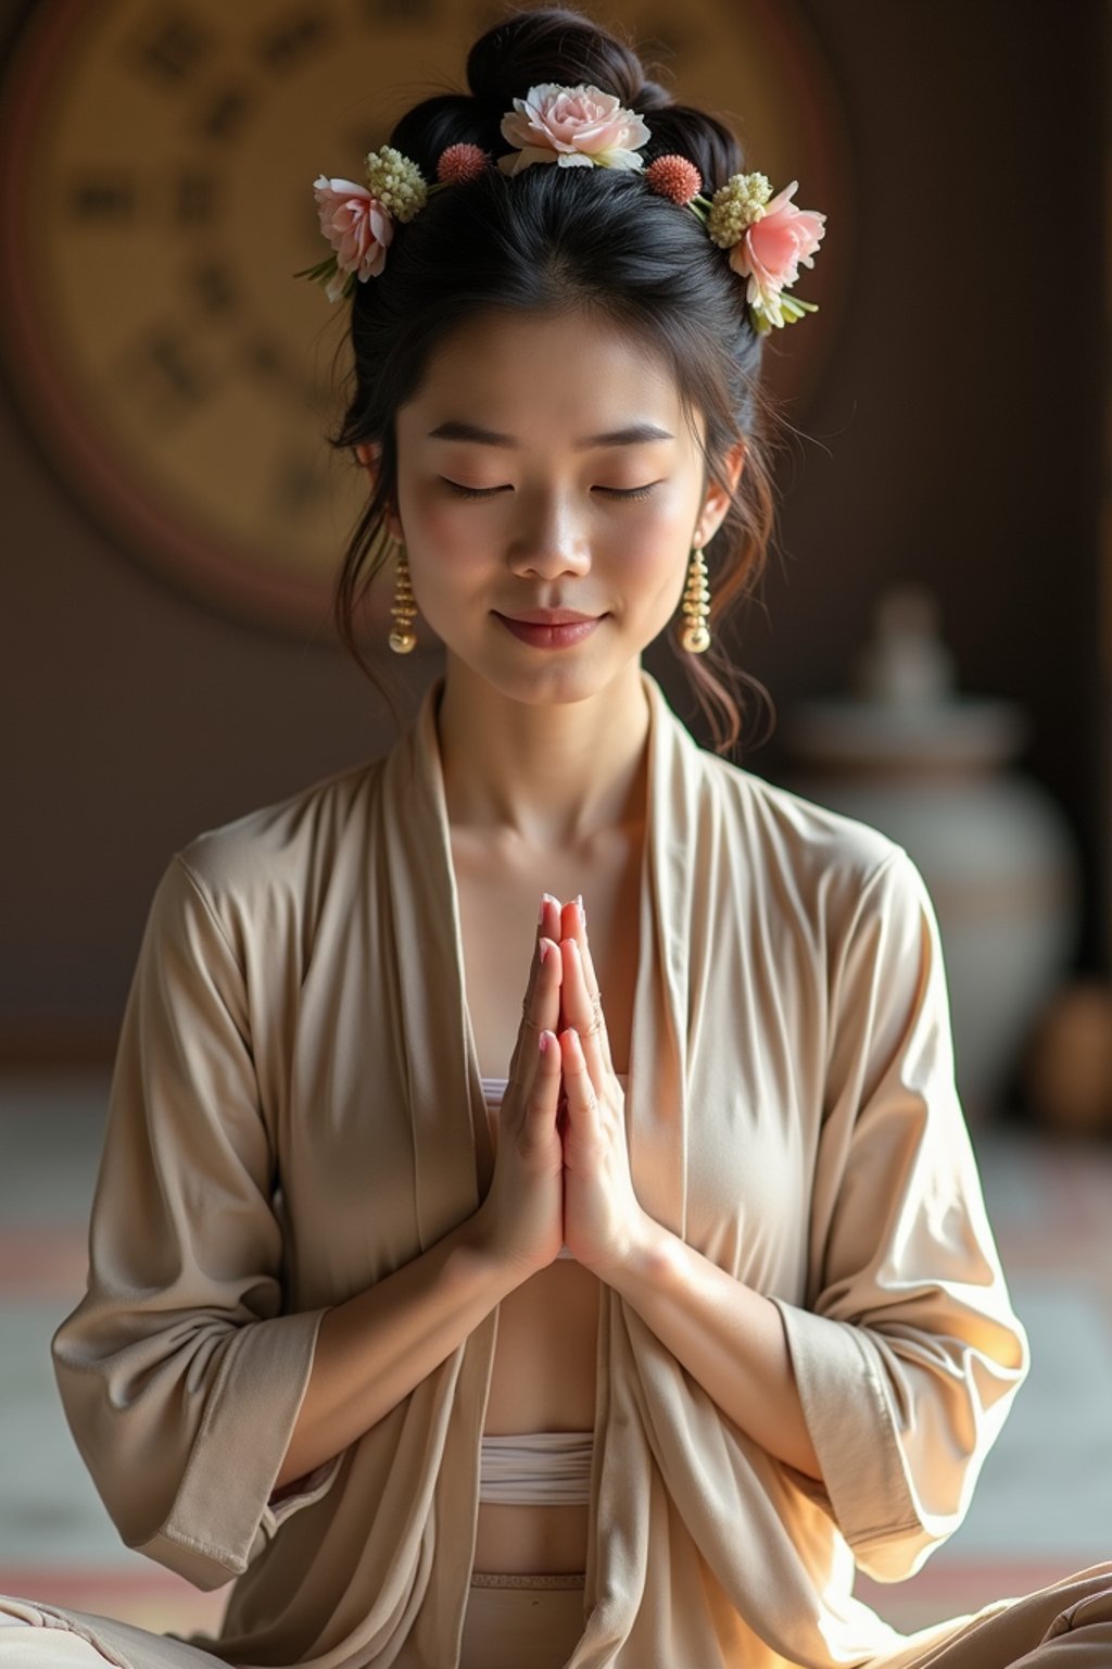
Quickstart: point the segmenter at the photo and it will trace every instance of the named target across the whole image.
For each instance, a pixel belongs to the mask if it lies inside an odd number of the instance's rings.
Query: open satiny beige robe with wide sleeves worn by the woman
[[[825,1487],[604,1292],[574,1669],[829,1669],[850,1597],[960,1522],[1027,1352],[954,1088],[939,931],[885,836],[700,749],[645,673],[629,1063],[642,1205],[784,1317]],[[128,1545],[235,1577],[235,1664],[455,1664],[497,1312],[270,1504],[323,1308],[475,1212],[492,1147],[435,709],[385,758],[200,836],[152,906],[88,1297],[55,1340]]]

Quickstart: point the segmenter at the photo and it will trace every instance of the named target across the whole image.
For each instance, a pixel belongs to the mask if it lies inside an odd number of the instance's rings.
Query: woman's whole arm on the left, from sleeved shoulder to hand
[[[555,1023],[557,978],[535,963],[533,1023]],[[175,860],[120,1036],[88,1292],[53,1354],[75,1442],[123,1540],[200,1587],[245,1571],[285,1517],[332,1487],[335,1457],[560,1245],[550,1061],[535,1080],[522,1066],[537,1095],[503,1103],[540,1140],[507,1142],[472,1218],[345,1303],[287,1312],[257,1045],[235,950]]]

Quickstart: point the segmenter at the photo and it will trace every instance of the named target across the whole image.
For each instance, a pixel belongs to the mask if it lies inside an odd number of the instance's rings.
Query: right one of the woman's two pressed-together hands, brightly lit
[[[565,905],[562,925],[564,1240],[607,1280],[642,1243],[647,1218],[634,1192],[625,1093],[610,1061],[582,905]]]

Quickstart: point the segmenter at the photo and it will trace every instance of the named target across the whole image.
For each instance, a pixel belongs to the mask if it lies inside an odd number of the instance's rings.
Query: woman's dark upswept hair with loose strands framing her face
[[[645,162],[669,152],[689,157],[707,195],[742,170],[729,129],[672,103],[629,47],[577,12],[510,15],[472,47],[467,80],[470,95],[427,98],[390,135],[428,180],[447,145],[470,142],[492,157],[505,155],[512,147],[502,139],[502,117],[513,98],[542,82],[585,82],[627,108],[652,113]],[[355,618],[390,554],[385,512],[397,482],[395,414],[420,387],[437,345],[478,314],[570,309],[605,317],[670,362],[689,422],[695,412],[704,417],[712,479],[724,484],[725,454],[745,437],[742,479],[707,547],[714,643],[702,656],[677,648],[717,751],[725,753],[740,734],[740,711],[722,621],[764,567],[774,514],[762,447],[769,422],[759,389],[762,339],[749,319],[744,280],[699,219],[652,192],[634,170],[532,167],[510,179],[487,169],[477,180],[433,194],[413,220],[395,229],[383,274],[355,285],[353,387],[335,444],[375,444],[380,464],[337,581],[340,638],[385,694],[360,649]],[[760,689],[745,676],[742,683]]]

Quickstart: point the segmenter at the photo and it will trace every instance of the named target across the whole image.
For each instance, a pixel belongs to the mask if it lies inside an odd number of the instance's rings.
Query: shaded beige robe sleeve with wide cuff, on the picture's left
[[[125,1010],[88,1292],[53,1359],[120,1535],[203,1589],[247,1569],[338,1469],[272,1504],[323,1315],[282,1314],[275,1180],[243,970],[177,858]]]

